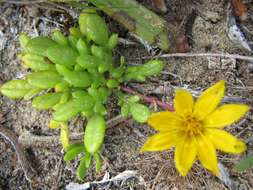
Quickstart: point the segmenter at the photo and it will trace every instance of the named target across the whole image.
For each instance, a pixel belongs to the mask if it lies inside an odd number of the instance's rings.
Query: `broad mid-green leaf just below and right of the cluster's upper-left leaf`
[[[78,53],[71,47],[55,45],[50,47],[46,51],[47,57],[50,61],[55,64],[64,65],[66,67],[71,67],[76,64],[76,58]]]

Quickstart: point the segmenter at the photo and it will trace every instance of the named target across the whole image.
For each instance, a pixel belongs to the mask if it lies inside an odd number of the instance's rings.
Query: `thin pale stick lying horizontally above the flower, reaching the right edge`
[[[169,53],[162,54],[155,57],[146,56],[142,59],[151,59],[151,58],[171,58],[171,57],[223,57],[223,58],[232,58],[240,59],[245,61],[253,61],[253,56],[244,56],[238,54],[228,54],[228,53]]]

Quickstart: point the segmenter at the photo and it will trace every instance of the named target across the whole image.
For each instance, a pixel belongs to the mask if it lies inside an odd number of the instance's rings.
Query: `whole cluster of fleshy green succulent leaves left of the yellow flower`
[[[24,79],[6,82],[0,91],[12,99],[33,98],[33,107],[53,110],[49,127],[60,129],[65,161],[81,157],[77,176],[83,179],[92,160],[97,172],[101,168],[100,149],[110,95],[117,95],[123,116],[146,122],[149,109],[140,103],[138,96],[123,94],[120,86],[128,81],[143,82],[159,74],[164,64],[153,60],[140,66],[127,66],[124,57],[115,63],[113,49],[118,35],[110,35],[103,18],[93,10],[80,15],[79,26],[70,28],[68,36],[59,30],[51,37],[30,38],[21,34],[20,58],[31,72]],[[83,142],[70,145],[68,122],[77,115],[86,118],[88,123]]]

